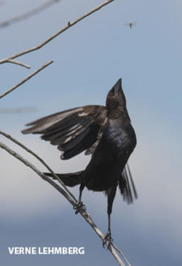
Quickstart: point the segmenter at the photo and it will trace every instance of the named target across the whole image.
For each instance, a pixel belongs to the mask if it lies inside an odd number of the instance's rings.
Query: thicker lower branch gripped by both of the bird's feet
[[[45,174],[43,174],[41,171],[39,171],[32,163],[30,163],[28,160],[24,159],[21,155],[19,155],[17,152],[15,152],[14,150],[11,150],[9,147],[7,147],[5,144],[3,144],[2,142],[0,142],[0,147],[4,150],[6,150],[7,152],[9,152],[9,154],[11,154],[12,156],[16,157],[18,160],[20,160],[21,162],[23,162],[26,166],[30,167],[34,172],[36,172],[43,180],[47,181],[48,183],[50,183],[50,185],[52,185],[55,189],[57,189],[73,206],[75,206],[74,201],[70,198],[70,196],[59,186],[57,185],[52,179],[48,178],[48,176],[46,176]],[[96,234],[102,239],[104,239],[104,234],[102,233],[102,231],[96,226],[96,224],[94,223],[94,221],[92,220],[90,214],[88,214],[86,211],[80,211],[80,214],[82,215],[82,217],[87,221],[88,224],[90,224],[90,226],[92,227],[92,229],[94,229],[94,231],[96,232]],[[108,245],[108,243],[106,243],[106,245]],[[114,256],[114,258],[117,260],[117,262],[119,263],[119,265],[124,266],[124,263],[122,262],[122,260],[120,259],[120,257],[118,256],[118,254],[115,252],[115,250],[112,248],[112,246],[109,246],[109,251],[112,253],[112,255]],[[118,250],[118,249],[117,249]],[[120,253],[121,254],[121,253]]]

